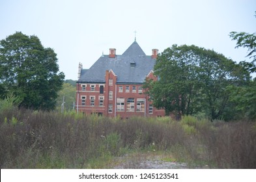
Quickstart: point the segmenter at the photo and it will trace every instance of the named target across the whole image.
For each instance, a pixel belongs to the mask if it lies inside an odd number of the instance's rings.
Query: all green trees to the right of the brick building
[[[255,12],[256,15],[256,12]],[[256,16],[255,16],[256,17]],[[256,32],[231,32],[236,48],[246,47],[251,61],[236,63],[196,45],[172,45],[158,55],[154,74],[145,81],[154,106],[180,115],[210,120],[256,119]]]

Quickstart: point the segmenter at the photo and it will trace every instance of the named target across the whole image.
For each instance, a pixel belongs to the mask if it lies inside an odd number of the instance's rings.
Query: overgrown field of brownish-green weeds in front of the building
[[[256,168],[256,123],[0,111],[1,168],[113,168],[113,159],[168,153],[190,168]],[[165,159],[168,161],[168,159]],[[171,159],[170,159],[171,160]]]

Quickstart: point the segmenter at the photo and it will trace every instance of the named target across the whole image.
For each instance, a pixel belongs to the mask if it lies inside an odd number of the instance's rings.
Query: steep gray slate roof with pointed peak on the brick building
[[[131,63],[135,63],[134,68]],[[89,70],[82,70],[78,83],[105,83],[106,70],[113,70],[117,75],[117,83],[143,83],[155,63],[156,59],[145,55],[134,41],[122,55],[116,55],[115,58],[102,55]]]

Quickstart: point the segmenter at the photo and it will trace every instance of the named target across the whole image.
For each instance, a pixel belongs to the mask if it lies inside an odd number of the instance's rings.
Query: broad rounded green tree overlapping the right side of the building
[[[158,56],[154,66],[158,81],[146,81],[147,94],[165,114],[205,112],[212,120],[225,118],[228,85],[244,85],[249,73],[212,50],[195,45],[173,45]]]

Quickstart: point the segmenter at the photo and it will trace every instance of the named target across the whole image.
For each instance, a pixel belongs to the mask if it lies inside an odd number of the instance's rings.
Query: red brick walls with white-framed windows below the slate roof
[[[150,79],[156,79],[152,72]],[[86,114],[121,118],[131,116],[164,116],[164,110],[152,107],[152,101],[145,93],[143,85],[117,84],[117,75],[106,70],[106,83],[78,83],[76,92],[76,110]]]

